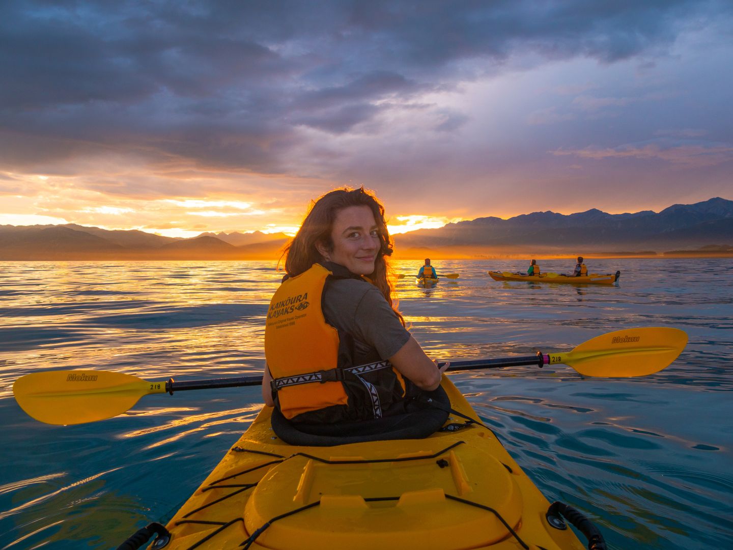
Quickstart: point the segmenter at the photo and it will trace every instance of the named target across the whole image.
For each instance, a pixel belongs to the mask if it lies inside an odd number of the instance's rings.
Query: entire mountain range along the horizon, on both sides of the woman
[[[0,225],[0,260],[275,260],[284,233],[205,232],[171,238],[139,230],[77,224]],[[477,218],[396,235],[400,258],[548,257],[733,252],[733,201],[715,197],[659,213],[564,215],[534,212],[509,219]],[[625,252],[619,252],[625,251]],[[696,252],[689,252],[696,251]]]

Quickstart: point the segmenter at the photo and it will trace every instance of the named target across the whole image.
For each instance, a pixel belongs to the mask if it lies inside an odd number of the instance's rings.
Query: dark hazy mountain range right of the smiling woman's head
[[[534,212],[509,219],[477,218],[439,229],[397,235],[397,245],[431,249],[445,257],[466,249],[488,254],[610,254],[627,251],[694,250],[733,245],[733,201],[715,197],[693,205],[672,205],[659,213],[609,214],[595,208],[564,215]],[[707,248],[708,251],[712,250]]]

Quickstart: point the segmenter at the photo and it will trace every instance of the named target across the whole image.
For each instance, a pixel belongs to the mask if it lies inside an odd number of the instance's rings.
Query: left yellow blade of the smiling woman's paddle
[[[116,417],[140,397],[166,391],[165,382],[106,370],[53,370],[21,376],[12,385],[23,411],[46,424],[83,424]]]

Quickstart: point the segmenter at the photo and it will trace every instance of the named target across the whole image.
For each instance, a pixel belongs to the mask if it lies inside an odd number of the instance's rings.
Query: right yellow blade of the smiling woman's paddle
[[[583,342],[569,353],[550,353],[550,364],[562,363],[586,376],[644,376],[667,367],[685,348],[685,331],[645,327],[608,332]]]

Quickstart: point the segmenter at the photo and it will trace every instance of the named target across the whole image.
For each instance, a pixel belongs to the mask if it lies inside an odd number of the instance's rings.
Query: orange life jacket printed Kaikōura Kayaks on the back
[[[405,395],[405,381],[384,360],[353,364],[353,353],[323,316],[322,298],[327,279],[358,277],[329,265],[340,273],[315,263],[285,279],[270,301],[265,359],[276,406],[287,419],[322,409],[328,409],[323,422],[380,418],[383,404]]]

